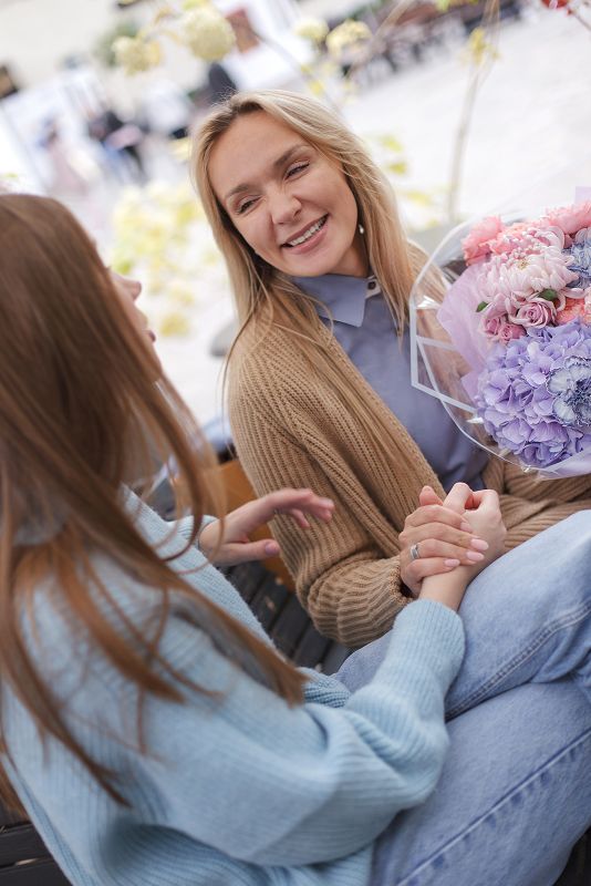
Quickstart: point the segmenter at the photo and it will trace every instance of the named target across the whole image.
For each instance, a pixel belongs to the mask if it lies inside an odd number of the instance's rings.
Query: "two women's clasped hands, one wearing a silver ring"
[[[402,580],[417,595],[423,579],[457,567],[468,567],[473,578],[505,552],[506,534],[492,490],[473,492],[456,483],[442,502],[425,486],[419,507],[406,517],[398,536]]]

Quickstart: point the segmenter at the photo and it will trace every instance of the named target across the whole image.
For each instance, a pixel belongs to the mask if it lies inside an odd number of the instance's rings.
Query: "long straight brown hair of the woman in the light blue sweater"
[[[121,487],[132,461],[137,481],[149,477],[155,460],[174,457],[177,506],[195,517],[187,547],[206,503],[219,495],[206,475],[214,456],[170,382],[154,381],[157,360],[87,235],[55,200],[6,194],[0,241],[0,688],[8,683],[42,734],[63,742],[121,800],[107,771],[74,739],[28,649],[22,606],[41,576],[50,577],[72,626],[137,686],[138,714],[145,692],[182,698],[174,684],[182,676],[158,652],[172,591],[190,597],[190,617],[222,652],[290,703],[302,698],[302,678],[177,575],[125,511]],[[37,544],[28,543],[31,533]],[[95,552],[153,589],[158,617],[145,632],[124,625],[93,569]],[[131,627],[133,645],[108,615]],[[10,753],[1,720],[0,751]],[[0,793],[14,801],[8,784]]]

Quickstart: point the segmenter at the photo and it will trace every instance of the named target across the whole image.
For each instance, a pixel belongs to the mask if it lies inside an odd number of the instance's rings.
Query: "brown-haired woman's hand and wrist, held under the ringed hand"
[[[488,543],[486,554],[478,563],[458,566],[447,575],[433,575],[423,581],[422,599],[439,600],[457,609],[471,579],[505,553],[507,529],[502,523],[499,496],[492,490],[471,492],[465,483],[456,483],[444,505],[456,513],[463,509],[473,530]]]

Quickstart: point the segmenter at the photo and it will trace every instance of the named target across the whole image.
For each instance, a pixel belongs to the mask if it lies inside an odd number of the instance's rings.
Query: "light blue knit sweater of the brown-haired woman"
[[[179,549],[170,524],[133,496],[129,507],[162,554]],[[122,610],[144,625],[156,595],[104,556],[94,565]],[[194,570],[203,557],[191,549],[174,566]],[[214,567],[188,577],[263,636]],[[129,802],[117,805],[59,743],[43,749],[31,717],[7,694],[10,776],[75,886],[363,886],[376,836],[435,787],[447,748],[444,696],[464,650],[450,609],[413,602],[371,683],[350,694],[310,672],[305,703],[289,708],[221,656],[179,604],[163,651],[224,694],[184,690],[184,704],[148,698],[143,754],[134,744],[136,690],[82,631],[72,633],[48,591],[49,583],[39,587],[33,605],[35,658],[76,736],[116,773]]]

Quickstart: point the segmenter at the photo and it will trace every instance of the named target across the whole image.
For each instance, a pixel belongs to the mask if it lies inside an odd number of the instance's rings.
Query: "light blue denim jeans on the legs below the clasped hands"
[[[551,886],[591,825],[591,512],[489,566],[460,615],[447,761],[377,841],[372,886]],[[366,682],[387,642],[339,678]]]

